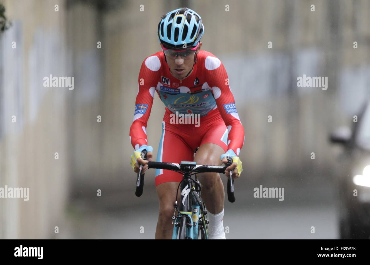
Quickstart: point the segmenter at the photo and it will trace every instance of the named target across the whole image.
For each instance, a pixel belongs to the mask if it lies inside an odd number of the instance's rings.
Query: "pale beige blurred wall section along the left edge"
[[[71,75],[66,12],[54,11],[64,1],[1,3],[12,26],[0,35],[0,187],[29,187],[30,194],[28,201],[0,198],[0,238],[54,238],[68,189],[70,91],[44,87],[43,78]]]

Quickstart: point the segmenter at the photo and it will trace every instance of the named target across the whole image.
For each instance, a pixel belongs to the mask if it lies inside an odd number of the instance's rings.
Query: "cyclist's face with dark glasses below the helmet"
[[[199,42],[199,46],[196,51],[191,51],[188,55],[181,57],[177,55],[176,57],[167,56],[167,64],[172,73],[172,75],[177,79],[183,79],[189,73],[194,64],[195,52],[198,53],[202,47],[202,43]]]

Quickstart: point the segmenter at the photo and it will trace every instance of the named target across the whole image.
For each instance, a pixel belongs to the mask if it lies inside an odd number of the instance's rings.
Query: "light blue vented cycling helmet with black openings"
[[[158,24],[158,39],[165,48],[196,46],[203,33],[202,18],[186,7],[167,13]]]

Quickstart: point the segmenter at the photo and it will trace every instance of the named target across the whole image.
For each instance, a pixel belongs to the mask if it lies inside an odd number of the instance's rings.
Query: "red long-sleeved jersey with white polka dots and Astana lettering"
[[[221,115],[228,128],[228,150],[232,149],[239,155],[244,143],[244,129],[225,67],[211,52],[201,50],[197,56],[192,73],[182,80],[171,74],[162,51],[142,62],[134,120],[129,133],[135,149],[148,144],[147,121],[157,92],[166,111],[200,114],[201,126]]]

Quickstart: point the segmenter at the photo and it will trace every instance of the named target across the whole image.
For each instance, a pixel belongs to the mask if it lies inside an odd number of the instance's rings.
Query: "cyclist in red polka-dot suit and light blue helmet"
[[[146,128],[155,92],[166,106],[158,162],[195,161],[197,164],[219,165],[220,157],[226,163],[224,157],[229,154],[233,163],[226,168],[226,176],[232,171],[235,179],[242,172],[238,155],[244,143],[243,125],[222,62],[211,52],[201,50],[203,33],[201,17],[188,8],[167,13],[158,24],[162,51],[142,62],[134,120],[129,133],[135,150],[131,156],[135,173],[138,173],[139,163],[145,165],[152,160],[153,148],[148,146]],[[200,125],[176,123],[175,119],[171,120],[174,114],[199,115]],[[194,155],[197,147],[199,149]],[[140,158],[143,149],[148,151],[148,160]],[[147,165],[142,173],[146,170]],[[208,210],[208,238],[225,239],[225,194],[221,178],[218,173],[197,176]],[[172,236],[174,197],[181,180],[179,173],[156,169],[155,186],[159,198],[156,239],[170,239]]]

